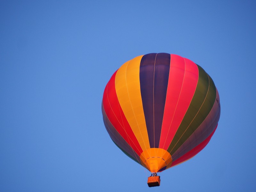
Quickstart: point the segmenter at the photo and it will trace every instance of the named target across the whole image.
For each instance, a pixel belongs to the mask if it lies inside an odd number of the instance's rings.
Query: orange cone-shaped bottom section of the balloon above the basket
[[[140,155],[142,166],[150,172],[161,172],[172,165],[172,156],[161,148],[149,148]]]

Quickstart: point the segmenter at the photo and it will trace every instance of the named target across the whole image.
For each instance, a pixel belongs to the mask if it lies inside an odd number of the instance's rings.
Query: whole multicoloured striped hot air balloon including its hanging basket
[[[102,99],[104,125],[127,156],[148,169],[148,186],[162,172],[200,152],[220,118],[212,78],[193,61],[149,53],[124,63],[108,81]]]

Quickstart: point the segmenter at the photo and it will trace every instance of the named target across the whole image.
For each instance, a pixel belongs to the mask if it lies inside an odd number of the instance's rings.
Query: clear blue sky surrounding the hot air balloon
[[[255,191],[255,1],[0,2],[0,191]],[[127,60],[188,58],[221,114],[194,158],[150,172],[119,150],[102,95]]]

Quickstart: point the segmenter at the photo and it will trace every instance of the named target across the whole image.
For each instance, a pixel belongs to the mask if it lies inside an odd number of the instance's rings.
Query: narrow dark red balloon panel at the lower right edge
[[[218,124],[217,124],[218,126]],[[177,159],[176,161],[172,162],[172,166],[177,165],[182,163],[183,161],[186,161],[190,158],[192,158],[193,156],[195,156],[197,153],[199,153],[211,140],[213,133],[216,131],[217,126],[215,127],[215,129],[213,130],[213,132],[211,133],[211,135],[209,135],[202,143],[200,143],[199,145],[197,145],[195,148],[191,149],[190,151],[188,151],[188,153],[186,153],[185,155],[181,156],[179,159]],[[171,167],[172,167],[171,166]]]

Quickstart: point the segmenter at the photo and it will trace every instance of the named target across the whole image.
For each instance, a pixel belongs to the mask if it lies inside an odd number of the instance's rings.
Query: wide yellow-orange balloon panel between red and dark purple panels
[[[143,151],[150,148],[140,94],[140,60],[143,55],[124,63],[116,72],[118,101]]]

